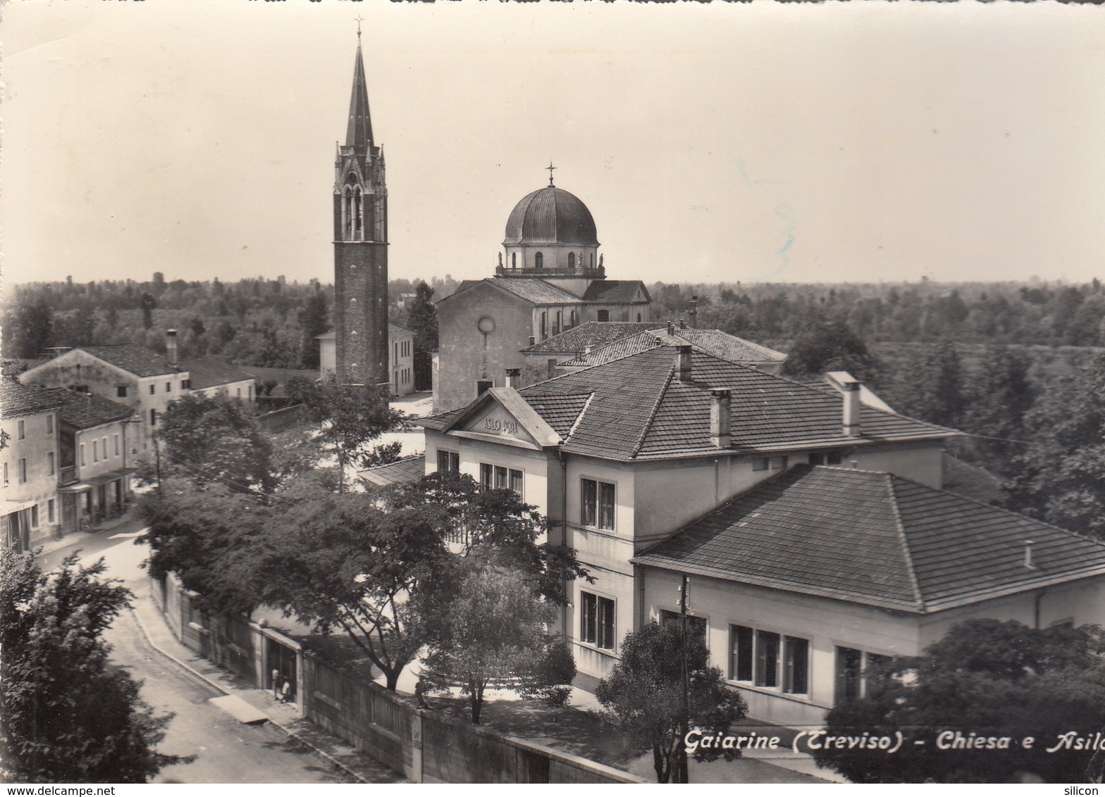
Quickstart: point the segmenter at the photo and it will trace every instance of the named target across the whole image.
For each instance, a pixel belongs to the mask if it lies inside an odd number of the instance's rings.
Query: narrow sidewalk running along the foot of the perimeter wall
[[[190,671],[213,689],[232,694],[261,711],[276,727],[297,740],[326,763],[358,783],[407,783],[407,779],[379,764],[336,736],[299,716],[294,704],[278,703],[272,692],[245,686],[231,673],[215,667],[177,641],[165,624],[150,595],[149,582],[135,589],[131,614],[138,620],[147,641],[179,667]]]

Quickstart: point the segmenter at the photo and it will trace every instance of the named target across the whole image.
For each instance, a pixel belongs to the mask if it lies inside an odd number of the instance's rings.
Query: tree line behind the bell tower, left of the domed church
[[[430,352],[436,350],[432,297],[452,293],[446,276],[430,283],[393,279],[389,320],[411,329],[414,376],[429,390]],[[4,357],[34,359],[52,347],[135,343],[165,351],[165,331],[176,329],[181,359],[219,357],[259,368],[318,369],[315,337],[332,329],[334,288],[277,279],[236,283],[92,280],[30,283],[9,288],[3,312]]]

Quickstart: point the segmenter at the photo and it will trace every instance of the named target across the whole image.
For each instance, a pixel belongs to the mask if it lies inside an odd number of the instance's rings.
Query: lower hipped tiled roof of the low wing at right
[[[1105,545],[890,474],[799,465],[633,561],[927,613],[1105,574]]]

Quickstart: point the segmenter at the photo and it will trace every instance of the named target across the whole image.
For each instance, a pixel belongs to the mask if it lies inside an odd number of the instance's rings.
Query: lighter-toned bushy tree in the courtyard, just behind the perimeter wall
[[[480,724],[487,689],[537,694],[562,683],[565,673],[545,663],[562,653],[548,633],[555,607],[541,597],[534,576],[486,563],[465,571],[441,605],[423,657],[423,679],[435,689],[459,686],[469,697],[472,722]],[[573,676],[573,662],[570,669]]]

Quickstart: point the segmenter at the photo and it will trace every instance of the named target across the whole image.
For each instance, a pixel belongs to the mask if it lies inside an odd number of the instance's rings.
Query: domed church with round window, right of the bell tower
[[[505,386],[507,369],[526,366],[528,346],[588,321],[651,321],[651,305],[641,280],[607,279],[590,210],[550,178],[511,212],[495,276],[438,301],[434,407]]]

